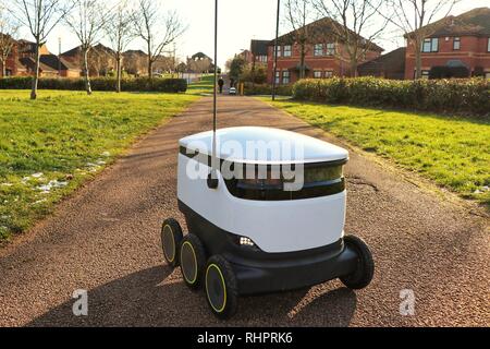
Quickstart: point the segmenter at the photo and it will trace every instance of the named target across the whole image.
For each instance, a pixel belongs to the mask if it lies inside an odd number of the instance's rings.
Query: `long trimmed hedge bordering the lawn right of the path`
[[[489,116],[490,81],[393,81],[376,77],[302,80],[293,86],[293,98],[327,104]]]

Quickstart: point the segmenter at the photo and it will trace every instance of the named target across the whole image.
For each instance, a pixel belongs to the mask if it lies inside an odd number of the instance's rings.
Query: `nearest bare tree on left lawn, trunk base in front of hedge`
[[[12,0],[11,13],[28,27],[36,44],[36,63],[30,99],[37,98],[39,83],[40,47],[52,29],[66,16],[72,5],[63,0]]]

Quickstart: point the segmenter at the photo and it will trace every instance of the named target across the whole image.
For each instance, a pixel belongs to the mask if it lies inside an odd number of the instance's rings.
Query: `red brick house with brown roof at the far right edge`
[[[458,16],[429,24],[421,46],[422,77],[432,68],[463,69],[467,76],[490,79],[490,9],[479,8]],[[405,57],[405,79],[415,79],[415,47],[408,40]]]

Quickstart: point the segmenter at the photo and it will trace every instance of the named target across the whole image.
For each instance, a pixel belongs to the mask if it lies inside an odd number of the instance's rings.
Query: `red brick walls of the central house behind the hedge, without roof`
[[[342,52],[342,47],[338,47],[338,52]],[[368,51],[366,55],[366,60],[359,61],[362,62],[372,60],[378,58],[380,52]],[[273,82],[273,46],[269,46],[268,53],[268,82],[271,84]],[[292,47],[292,56],[291,57],[278,57],[278,71],[281,72],[281,82],[282,82],[282,71],[290,70],[290,83],[295,83],[299,77],[299,72],[296,70],[291,70],[296,65],[299,65],[301,62],[301,46],[293,45]],[[316,57],[314,55],[314,45],[308,45],[306,47],[306,57],[305,63],[310,69],[310,71],[306,71],[306,77],[314,77],[314,71],[321,71],[322,76],[324,76],[326,72],[332,72],[334,76],[347,76],[350,75],[350,67],[348,62],[342,61],[339,57],[334,56],[322,56]]]

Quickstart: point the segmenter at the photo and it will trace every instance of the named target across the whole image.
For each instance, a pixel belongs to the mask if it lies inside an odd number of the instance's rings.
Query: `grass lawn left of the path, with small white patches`
[[[197,96],[0,91],[0,241],[51,212]]]

